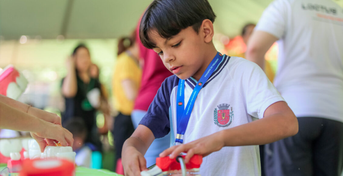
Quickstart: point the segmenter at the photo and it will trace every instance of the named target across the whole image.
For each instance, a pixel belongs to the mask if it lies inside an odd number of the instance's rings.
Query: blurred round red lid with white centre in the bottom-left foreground
[[[74,163],[62,159],[24,160],[20,176],[73,176]]]

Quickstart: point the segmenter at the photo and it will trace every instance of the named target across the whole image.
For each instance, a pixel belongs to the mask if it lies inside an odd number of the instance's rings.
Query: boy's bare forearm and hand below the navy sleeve
[[[140,175],[141,171],[146,170],[144,154],[154,139],[154,134],[148,127],[138,125],[131,137],[125,141],[121,152],[125,175]]]

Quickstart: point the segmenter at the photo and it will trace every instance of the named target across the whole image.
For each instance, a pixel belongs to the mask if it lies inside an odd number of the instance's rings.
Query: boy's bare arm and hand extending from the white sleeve
[[[264,118],[222,130],[193,142],[173,146],[160,154],[170,154],[174,159],[179,153],[187,152],[186,162],[194,154],[207,156],[223,146],[261,145],[271,143],[298,132],[298,121],[286,102],[276,102],[264,112]]]

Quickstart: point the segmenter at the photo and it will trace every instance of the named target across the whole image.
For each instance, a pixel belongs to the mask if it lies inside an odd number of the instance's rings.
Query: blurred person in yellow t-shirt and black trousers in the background
[[[135,42],[136,33],[118,41],[118,57],[113,74],[113,96],[118,115],[114,119],[113,136],[116,150],[116,172],[124,174],[121,150],[126,139],[134,131],[131,113],[141,83],[142,70],[139,65],[139,50]]]

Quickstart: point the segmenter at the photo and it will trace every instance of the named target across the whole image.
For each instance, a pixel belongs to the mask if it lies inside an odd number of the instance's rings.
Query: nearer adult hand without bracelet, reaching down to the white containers
[[[62,146],[73,145],[73,134],[67,129],[45,120],[40,120],[40,122],[40,125],[36,128],[37,130],[31,132],[31,136],[38,142],[41,152],[44,151],[47,145],[55,146],[54,141],[60,142]]]

